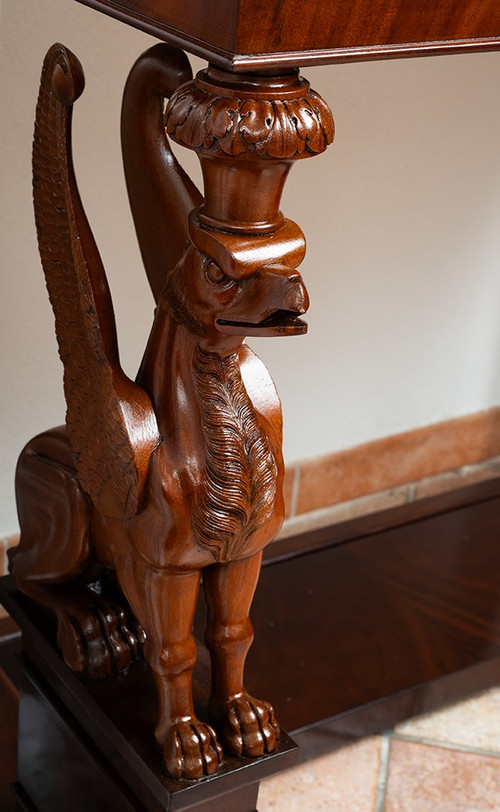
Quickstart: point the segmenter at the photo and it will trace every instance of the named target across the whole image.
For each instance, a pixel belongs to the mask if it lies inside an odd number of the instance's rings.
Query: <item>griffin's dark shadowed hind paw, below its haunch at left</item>
[[[57,643],[66,664],[89,677],[106,677],[141,656],[144,632],[135,619],[89,591],[66,600],[58,611]]]

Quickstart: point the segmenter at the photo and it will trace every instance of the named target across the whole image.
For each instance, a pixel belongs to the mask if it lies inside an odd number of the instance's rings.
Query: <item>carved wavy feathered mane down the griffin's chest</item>
[[[192,528],[197,544],[221,563],[237,558],[271,517],[277,464],[243,383],[238,354],[196,347],[194,389],[205,440],[205,471]]]

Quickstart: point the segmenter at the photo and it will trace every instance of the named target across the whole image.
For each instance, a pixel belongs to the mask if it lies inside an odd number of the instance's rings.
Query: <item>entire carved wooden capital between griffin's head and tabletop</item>
[[[283,227],[279,205],[292,163],[323,152],[334,135],[330,108],[298,70],[242,76],[213,66],[173,93],[165,128],[200,159],[202,226],[245,234]]]

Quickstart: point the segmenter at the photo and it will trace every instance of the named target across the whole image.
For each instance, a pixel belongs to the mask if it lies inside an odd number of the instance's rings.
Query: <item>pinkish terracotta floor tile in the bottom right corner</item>
[[[498,812],[500,758],[391,741],[384,812]]]

